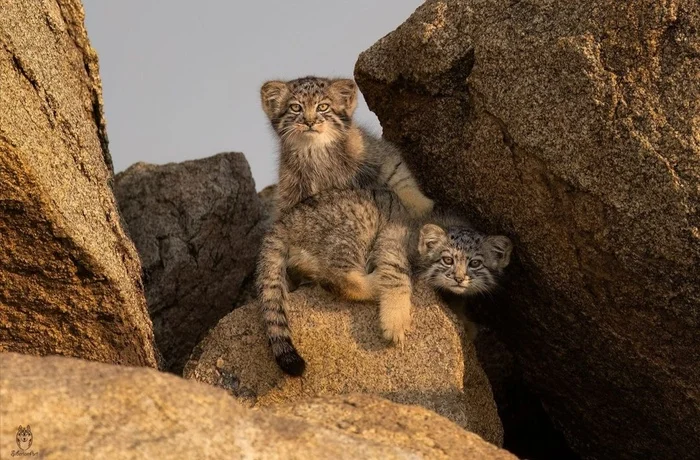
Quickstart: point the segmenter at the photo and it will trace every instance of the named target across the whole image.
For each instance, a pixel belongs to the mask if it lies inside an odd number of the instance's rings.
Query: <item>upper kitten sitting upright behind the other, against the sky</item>
[[[260,98],[280,141],[278,211],[333,188],[389,188],[411,215],[432,210],[400,151],[353,122],[353,80],[268,81]]]

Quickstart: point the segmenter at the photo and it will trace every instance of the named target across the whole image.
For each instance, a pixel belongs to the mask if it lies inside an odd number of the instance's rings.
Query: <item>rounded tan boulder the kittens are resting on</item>
[[[302,378],[284,376],[269,350],[258,306],[238,308],[198,345],[185,377],[268,406],[315,396],[363,393],[431,409],[500,445],[503,430],[488,380],[456,317],[417,286],[404,350],[387,345],[378,308],[343,302],[320,288],[290,294],[294,343],[307,361]]]

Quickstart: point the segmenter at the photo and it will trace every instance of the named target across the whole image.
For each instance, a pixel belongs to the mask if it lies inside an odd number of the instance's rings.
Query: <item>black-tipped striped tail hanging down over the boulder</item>
[[[258,298],[262,308],[267,338],[277,365],[286,374],[298,377],[306,363],[292,343],[292,331],[287,322],[287,258],[284,231],[273,226],[263,239],[257,268]]]

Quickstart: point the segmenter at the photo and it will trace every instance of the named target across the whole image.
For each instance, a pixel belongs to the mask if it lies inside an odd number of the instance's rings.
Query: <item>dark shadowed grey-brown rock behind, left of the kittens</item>
[[[242,153],[137,163],[117,175],[114,193],[141,256],[164,368],[181,373],[255,270],[265,219],[250,167]]]

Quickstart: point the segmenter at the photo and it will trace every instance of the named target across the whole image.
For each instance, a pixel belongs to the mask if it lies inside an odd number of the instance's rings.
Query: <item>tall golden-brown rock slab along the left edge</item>
[[[82,6],[0,11],[0,351],[156,366]]]

